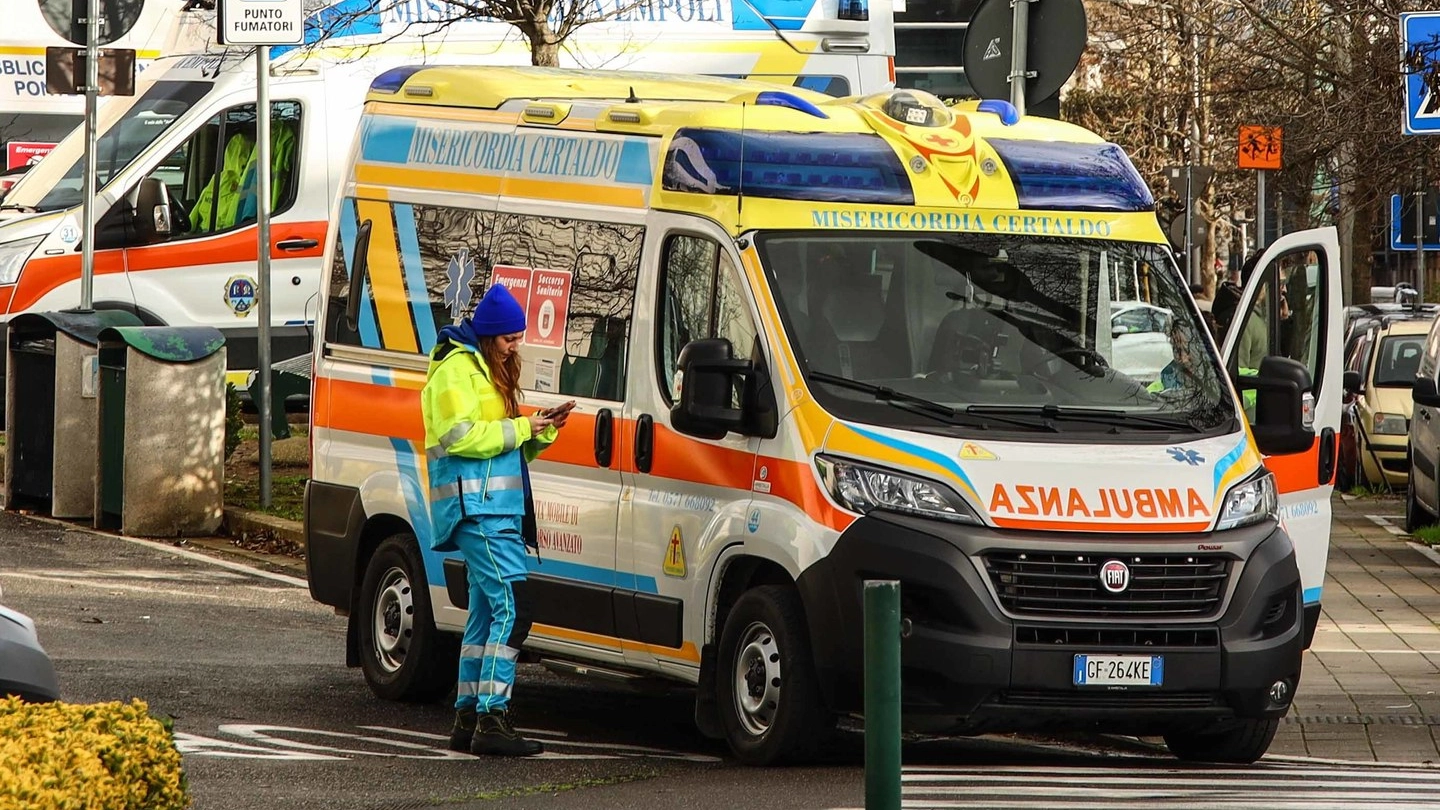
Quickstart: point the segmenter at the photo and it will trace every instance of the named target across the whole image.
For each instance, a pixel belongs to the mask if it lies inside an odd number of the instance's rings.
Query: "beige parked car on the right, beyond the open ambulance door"
[[[1338,486],[1410,481],[1411,386],[1433,321],[1434,313],[1428,320],[1384,320],[1358,336],[1345,365],[1348,418],[1341,424]]]

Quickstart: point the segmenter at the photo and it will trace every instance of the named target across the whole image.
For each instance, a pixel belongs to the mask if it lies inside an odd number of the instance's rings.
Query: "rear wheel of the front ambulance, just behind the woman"
[[[386,700],[431,702],[455,686],[456,640],[435,628],[415,535],[392,535],[366,566],[356,611],[360,669]]]

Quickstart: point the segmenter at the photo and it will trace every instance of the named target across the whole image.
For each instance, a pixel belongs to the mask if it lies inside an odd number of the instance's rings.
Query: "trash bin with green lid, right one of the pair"
[[[210,326],[99,333],[95,528],[210,535],[225,496],[225,336]]]

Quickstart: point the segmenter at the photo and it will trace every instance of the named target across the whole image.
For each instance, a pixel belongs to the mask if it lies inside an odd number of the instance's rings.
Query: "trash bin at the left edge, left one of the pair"
[[[69,310],[24,313],[10,321],[6,509],[95,515],[95,344],[112,326],[140,326],[140,319],[122,310]]]

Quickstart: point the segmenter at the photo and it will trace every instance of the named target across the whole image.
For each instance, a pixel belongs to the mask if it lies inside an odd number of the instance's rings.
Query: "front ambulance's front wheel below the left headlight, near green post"
[[[749,765],[804,760],[835,718],[815,677],[805,608],[786,587],[765,585],[736,601],[720,633],[716,667],[720,724]]]

